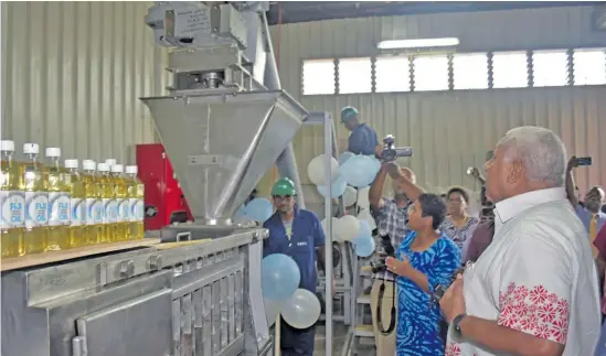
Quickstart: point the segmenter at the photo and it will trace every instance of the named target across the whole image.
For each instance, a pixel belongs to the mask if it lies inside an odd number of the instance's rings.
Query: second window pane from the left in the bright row
[[[372,91],[370,57],[339,60],[339,94]]]

